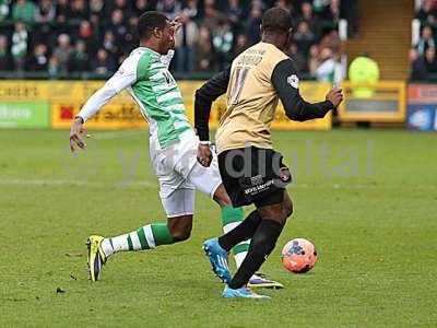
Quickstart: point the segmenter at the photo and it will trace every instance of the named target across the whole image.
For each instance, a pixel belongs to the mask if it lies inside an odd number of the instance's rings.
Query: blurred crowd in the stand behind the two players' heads
[[[180,16],[175,71],[216,71],[260,40],[262,12],[273,5],[295,19],[297,70],[328,79],[342,52],[340,0],[0,0],[0,71],[106,77],[138,46],[138,17],[149,10]]]

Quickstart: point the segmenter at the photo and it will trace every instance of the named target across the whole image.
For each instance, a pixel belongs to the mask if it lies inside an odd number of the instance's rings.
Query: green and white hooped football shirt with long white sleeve
[[[178,141],[182,132],[192,128],[182,95],[168,71],[173,55],[173,50],[161,56],[145,47],[134,49],[105,85],[88,98],[78,116],[86,121],[127,89],[150,124],[151,139],[157,140],[162,149]]]

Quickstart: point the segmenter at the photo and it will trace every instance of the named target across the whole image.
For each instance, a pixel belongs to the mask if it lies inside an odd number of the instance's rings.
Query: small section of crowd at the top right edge
[[[423,0],[415,17],[421,22],[421,36],[417,44],[410,49],[410,79],[436,80],[437,0]]]

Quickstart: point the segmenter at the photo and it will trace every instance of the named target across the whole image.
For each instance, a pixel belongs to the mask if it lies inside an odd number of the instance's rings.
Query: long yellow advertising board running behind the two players
[[[66,129],[86,99],[103,85],[103,81],[0,81],[0,102],[46,102],[51,113],[51,127]],[[202,81],[179,81],[187,115],[191,122],[194,117],[194,93]],[[324,99],[330,85],[317,82],[302,82],[300,92],[308,102]],[[226,109],[221,97],[211,112],[210,126],[216,128]],[[140,110],[123,91],[111,99],[94,118],[87,121],[92,129],[123,129],[146,127]],[[331,128],[331,116],[306,122],[291,121],[280,105],[272,122],[273,129],[282,130],[327,130]]]

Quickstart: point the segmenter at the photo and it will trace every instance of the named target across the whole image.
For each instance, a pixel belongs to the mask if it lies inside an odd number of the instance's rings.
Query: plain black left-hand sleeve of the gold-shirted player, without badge
[[[231,67],[212,77],[198,91],[194,99],[194,128],[200,141],[210,140],[210,113],[212,103],[226,93]]]

